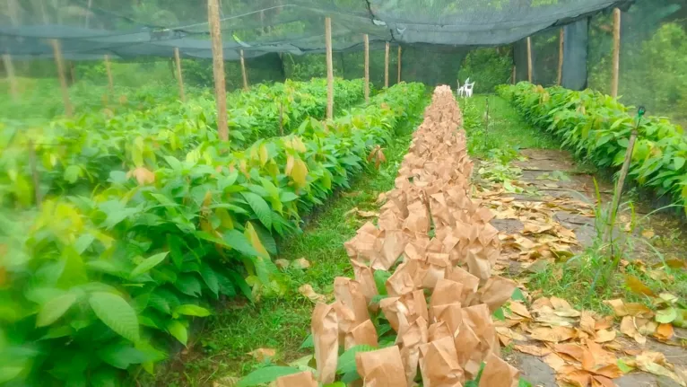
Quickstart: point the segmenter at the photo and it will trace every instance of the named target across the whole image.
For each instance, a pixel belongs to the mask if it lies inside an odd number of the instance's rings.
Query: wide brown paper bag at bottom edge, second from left
[[[401,351],[396,346],[358,352],[355,364],[365,387],[408,387]]]

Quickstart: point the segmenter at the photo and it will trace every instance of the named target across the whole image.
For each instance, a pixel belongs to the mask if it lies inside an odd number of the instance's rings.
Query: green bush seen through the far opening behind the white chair
[[[458,71],[458,80],[462,85],[469,77],[470,82],[475,83],[474,92],[494,92],[496,86],[509,82],[512,66],[510,50],[476,48],[463,60]]]

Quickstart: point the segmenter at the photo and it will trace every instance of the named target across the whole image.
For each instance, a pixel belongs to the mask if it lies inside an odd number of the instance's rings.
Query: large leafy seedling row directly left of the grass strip
[[[0,383],[117,385],[152,373],[170,337],[186,345],[221,297],[279,294],[274,238],[346,187],[423,94],[398,84],[326,124],[237,152],[206,142],[112,171],[89,197],[0,215]]]

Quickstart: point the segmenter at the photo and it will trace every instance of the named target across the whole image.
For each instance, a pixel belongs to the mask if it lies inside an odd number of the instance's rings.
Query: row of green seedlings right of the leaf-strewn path
[[[601,92],[544,89],[526,82],[503,86],[500,94],[514,103],[525,119],[563,140],[575,154],[600,168],[616,168],[624,160],[637,118],[630,108]],[[629,176],[640,187],[668,195],[684,206],[687,199],[687,138],[683,128],[658,117],[639,122]]]

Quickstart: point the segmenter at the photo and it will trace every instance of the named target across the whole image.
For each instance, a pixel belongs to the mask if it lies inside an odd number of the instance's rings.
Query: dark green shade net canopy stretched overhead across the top
[[[373,44],[505,45],[628,1],[613,0],[220,0],[226,60]],[[3,6],[3,5],[0,5]],[[8,0],[0,45],[17,59],[51,57],[50,39],[71,60],[212,57],[206,0]]]

